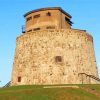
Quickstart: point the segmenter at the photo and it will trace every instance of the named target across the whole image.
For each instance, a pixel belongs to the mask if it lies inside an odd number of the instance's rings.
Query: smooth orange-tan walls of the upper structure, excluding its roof
[[[47,13],[51,15],[48,16]],[[39,16],[34,18],[35,16]],[[70,28],[70,25],[65,21],[65,16],[70,19],[67,15],[59,10],[44,10],[33,12],[26,16],[26,31],[34,30],[36,28],[46,29],[47,27],[54,27],[54,29],[65,29]],[[27,18],[31,20],[27,21]]]

